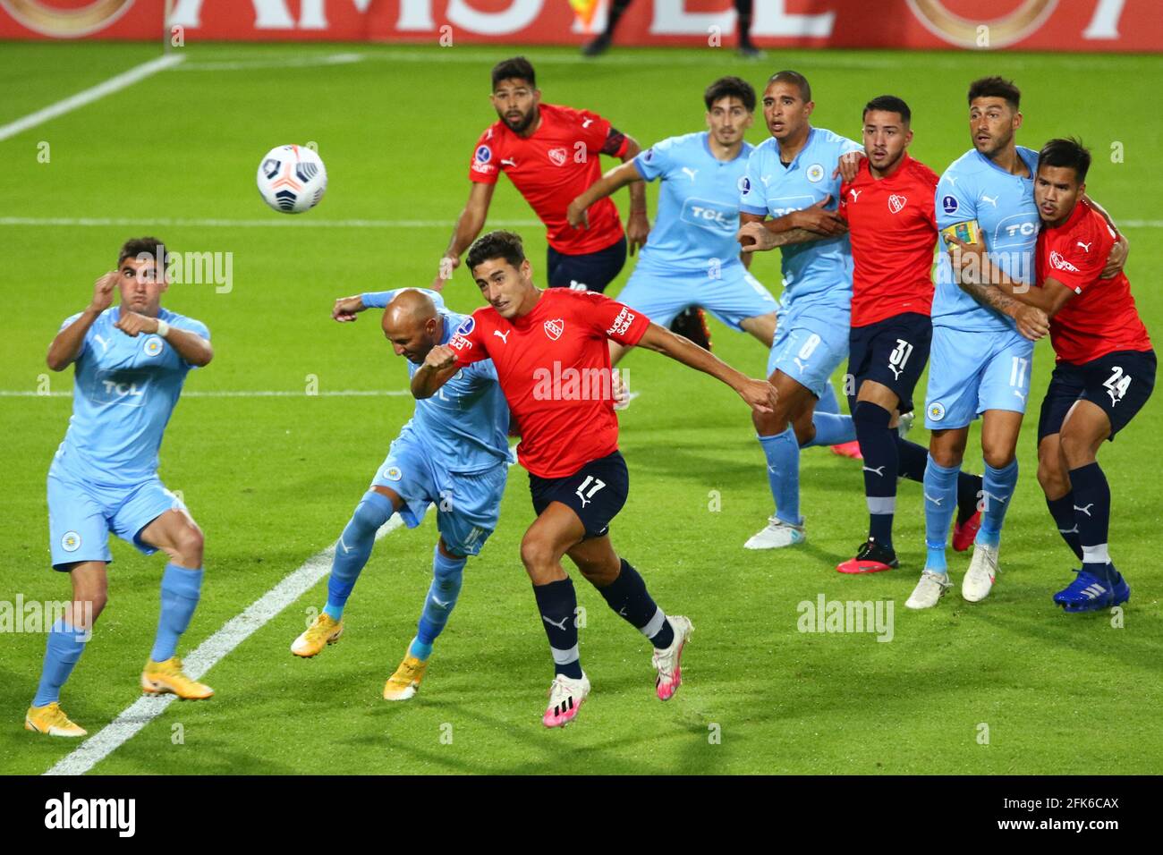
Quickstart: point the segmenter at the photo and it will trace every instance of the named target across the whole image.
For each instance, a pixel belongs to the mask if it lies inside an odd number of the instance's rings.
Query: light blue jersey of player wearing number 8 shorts
[[[840,177],[833,178],[840,156],[862,147],[823,128],[812,128],[807,142],[785,166],[779,142],[768,138],[751,152],[743,179],[740,211],[780,218],[832,197],[840,200]],[[852,249],[848,235],[782,248],[784,293],[793,318],[813,316],[848,326],[852,302]]]

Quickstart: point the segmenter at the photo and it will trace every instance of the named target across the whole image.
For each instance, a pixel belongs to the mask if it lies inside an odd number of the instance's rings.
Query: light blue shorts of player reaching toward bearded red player
[[[771,314],[776,298],[741,263],[719,270],[657,271],[634,269],[618,301],[635,308],[659,327],[669,327],[675,315],[699,306],[735,329],[748,318]]]

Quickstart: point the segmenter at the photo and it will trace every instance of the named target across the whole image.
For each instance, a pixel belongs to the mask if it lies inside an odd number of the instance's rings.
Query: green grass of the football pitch
[[[472,144],[492,121],[487,69],[502,49],[351,45],[195,45],[187,67],[0,143],[2,215],[278,220],[254,188],[258,158],[284,142],[317,142],[330,186],[302,222],[436,220],[431,228],[205,228],[0,226],[0,390],[37,387],[59,321],[79,311],[127,236],[156,231],[176,249],[234,252],[234,290],[176,287],[166,305],[204,320],[214,363],[188,391],[290,390],[308,376],[322,390],[401,390],[405,366],[374,318],[340,327],[333,298],[426,285],[468,191]],[[284,59],[359,54],[363,62],[278,67]],[[572,50],[531,49],[548,101],[609,116],[644,144],[702,124],[700,94],[718,76],[758,84],[775,65],[812,80],[815,123],[857,136],[859,109],[893,92],[913,107],[912,152],[943,170],[969,145],[966,83],[1016,78],[1027,111],[1020,142],[1077,134],[1096,164],[1090,192],[1120,221],[1158,220],[1144,192],[1163,156],[1151,105],[1163,59],[1066,55],[780,52],[771,65],[712,51],[622,50],[583,63]],[[152,47],[6,44],[0,123],[57,101],[154,55]],[[228,70],[199,64],[258,60]],[[265,63],[264,67],[262,64]],[[33,70],[36,70],[35,73]],[[1094,92],[1099,101],[1079,100]],[[9,97],[10,93],[10,97]],[[1083,108],[1101,104],[1103,108]],[[762,129],[750,138],[759,142]],[[37,162],[37,143],[51,162]],[[1122,143],[1123,163],[1107,152]],[[649,190],[652,200],[656,188]],[[625,208],[625,199],[621,200]],[[502,181],[494,220],[531,213]],[[543,231],[521,229],[535,271]],[[1163,297],[1160,230],[1127,229],[1128,273],[1148,327]],[[778,291],[777,258],[754,272]],[[616,294],[632,265],[627,265]],[[479,305],[463,275],[447,290],[461,311]],[[723,358],[761,373],[754,341],[715,327]],[[95,767],[119,772],[1153,772],[1163,756],[1160,591],[1155,564],[1163,496],[1150,442],[1163,425],[1153,399],[1101,462],[1114,487],[1111,542],[1134,586],[1125,626],[1107,614],[1066,615],[1050,593],[1069,577],[1034,478],[1040,390],[1053,354],[1036,351],[1035,393],[1019,446],[1022,476],[1009,512],[1004,575],[970,607],[956,593],[929,612],[904,608],[923,560],[919,485],[904,483],[896,542],[904,567],[841,577],[835,563],[864,537],[858,466],[826,451],[804,455],[802,504],[811,540],[778,554],[743,541],[770,512],[763,461],[748,414],[726,387],[651,354],[625,363],[643,396],[622,416],[633,490],[614,542],[668,610],[697,627],[686,683],[662,705],[650,651],[578,579],[582,630],[594,692],[577,725],[538,724],[550,679],[544,635],[518,558],[533,519],[525,472],[512,470],[499,530],[466,571],[464,592],[436,646],[416,700],[379,698],[414,632],[430,572],[435,528],[399,530],[377,547],[347,612],[343,641],[313,661],[287,647],[320,607],[324,585],[256,632],[208,675],[216,697],[176,704]],[[923,383],[923,380],[922,380]],[[67,391],[67,373],[51,377]],[[921,386],[923,390],[923,385]],[[920,394],[920,392],[919,392]],[[49,570],[44,478],[64,435],[67,398],[0,397],[0,597],[64,598]],[[187,398],[162,450],[162,477],[181,490],[207,535],[205,596],[183,641],[190,650],[337,536],[411,400],[380,398]],[[979,471],[976,429],[966,454]],[[927,441],[922,429],[914,439]],[[718,491],[721,510],[708,510]],[[157,620],[163,561],[119,541],[110,605],[63,700],[95,732],[138,697],[137,675]],[[959,578],[965,556],[951,558]],[[797,605],[892,600],[894,635],[801,634]],[[0,771],[41,772],[74,746],[35,738],[21,717],[38,678],[44,637],[0,636]],[[990,743],[978,743],[979,725]],[[184,743],[174,744],[177,725]],[[451,726],[451,731],[447,727]],[[708,736],[718,732],[714,743]],[[452,734],[451,743],[442,735]]]

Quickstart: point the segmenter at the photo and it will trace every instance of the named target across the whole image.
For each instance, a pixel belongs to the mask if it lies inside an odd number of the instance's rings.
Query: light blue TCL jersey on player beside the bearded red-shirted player
[[[645,180],[662,179],[658,212],[638,266],[650,271],[722,270],[739,258],[739,198],[755,147],[743,143],[733,161],[711,154],[709,134],[672,136],[634,158]]]

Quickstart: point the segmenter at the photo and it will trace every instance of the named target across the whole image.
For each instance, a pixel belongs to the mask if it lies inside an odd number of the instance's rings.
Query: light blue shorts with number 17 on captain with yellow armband
[[[965,427],[986,409],[1026,412],[1034,342],[1016,330],[933,327],[925,427]]]

